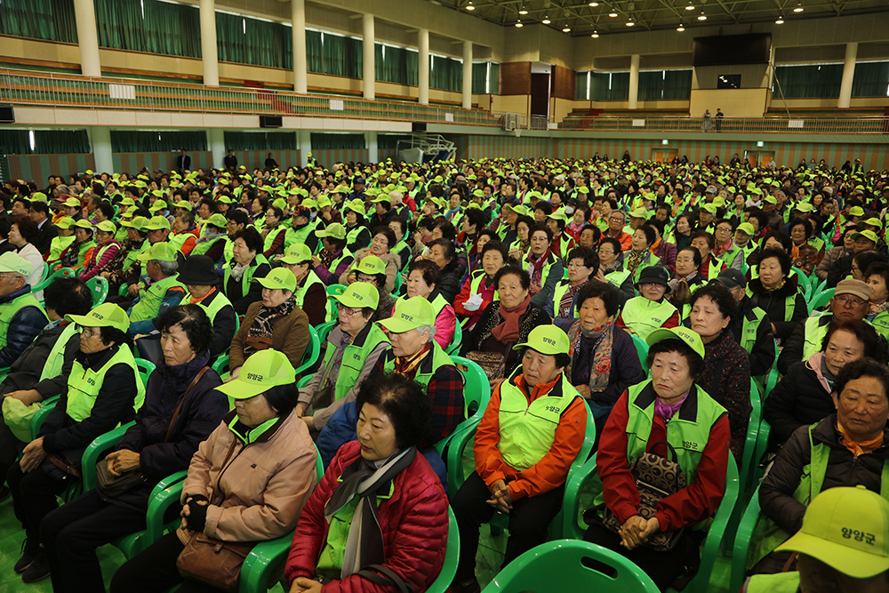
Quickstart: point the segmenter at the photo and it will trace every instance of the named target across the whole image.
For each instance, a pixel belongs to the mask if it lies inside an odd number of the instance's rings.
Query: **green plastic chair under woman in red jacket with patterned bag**
[[[573,539],[583,537],[584,527],[580,523],[581,487],[590,479],[596,480],[597,487],[601,489],[602,483],[598,480],[595,455],[580,470],[569,474],[568,480],[565,482],[565,500],[562,503],[564,513],[562,532],[565,537]],[[713,522],[707,528],[707,537],[704,539],[701,549],[701,568],[684,589],[687,593],[707,593],[710,574],[713,573],[713,566],[716,563],[726,526],[732,517],[735,503],[738,501],[739,482],[738,465],[735,463],[733,455],[729,453],[723,500],[719,503]]]

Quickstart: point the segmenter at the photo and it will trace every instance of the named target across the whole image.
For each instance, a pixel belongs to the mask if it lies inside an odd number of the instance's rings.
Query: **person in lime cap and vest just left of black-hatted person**
[[[145,263],[148,280],[140,286],[139,296],[126,311],[130,317],[127,334],[131,337],[153,332],[156,317],[179,305],[185,297],[185,286],[179,281],[177,253],[171,244],[158,243],[137,258]]]

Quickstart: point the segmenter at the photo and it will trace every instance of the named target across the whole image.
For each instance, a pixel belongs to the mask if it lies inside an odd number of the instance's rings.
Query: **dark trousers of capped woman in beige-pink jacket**
[[[165,593],[179,583],[178,593],[219,593],[210,585],[180,576],[176,559],[183,548],[175,532],[167,533],[117,569],[111,593]]]

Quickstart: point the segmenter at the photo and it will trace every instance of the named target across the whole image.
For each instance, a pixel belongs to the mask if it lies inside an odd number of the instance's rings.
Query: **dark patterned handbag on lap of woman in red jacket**
[[[677,463],[676,449],[673,448],[673,445],[667,441],[659,441],[652,445],[652,451],[661,444],[667,445],[672,460],[665,459],[657,453],[642,453],[629,465],[629,471],[636,480],[636,488],[639,492],[639,516],[645,519],[654,517],[661,499],[685,488],[685,474]],[[586,511],[584,519],[587,519],[587,513],[598,509],[599,507],[596,507]],[[589,520],[587,522],[590,523]],[[607,507],[605,507],[605,515],[601,522],[613,533],[618,533],[621,529],[620,519]],[[654,533],[649,536],[645,546],[657,551],[674,549],[682,539],[684,531],[685,527],[667,533]]]

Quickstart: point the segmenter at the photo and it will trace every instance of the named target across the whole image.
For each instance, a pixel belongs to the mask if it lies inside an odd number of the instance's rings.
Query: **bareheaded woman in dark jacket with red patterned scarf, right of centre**
[[[597,434],[614,402],[630,385],[645,381],[645,372],[629,333],[615,325],[620,297],[611,284],[594,280],[577,294],[579,319],[568,330],[574,389],[587,400]]]

